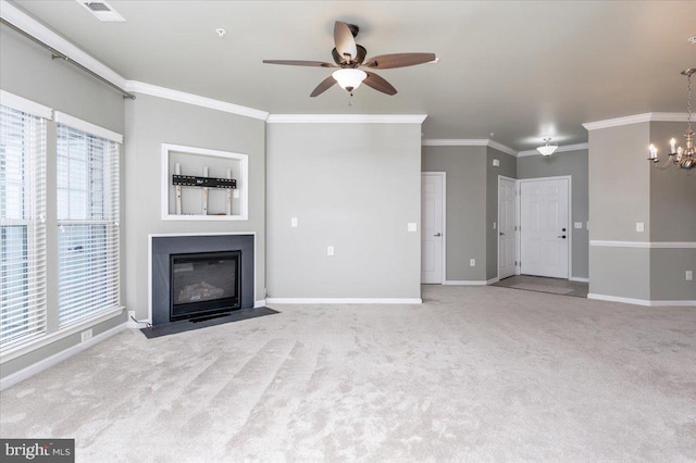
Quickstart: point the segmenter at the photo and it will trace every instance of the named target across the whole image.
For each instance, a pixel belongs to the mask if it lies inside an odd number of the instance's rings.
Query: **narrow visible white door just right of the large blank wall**
[[[443,283],[444,174],[424,173],[421,183],[421,283]]]

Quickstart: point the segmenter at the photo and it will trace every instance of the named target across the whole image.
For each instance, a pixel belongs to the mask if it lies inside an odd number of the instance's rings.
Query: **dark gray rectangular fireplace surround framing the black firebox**
[[[153,325],[253,308],[253,235],[151,239]]]

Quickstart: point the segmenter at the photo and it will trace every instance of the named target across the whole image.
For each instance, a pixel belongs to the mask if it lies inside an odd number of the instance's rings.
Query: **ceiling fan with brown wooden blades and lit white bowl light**
[[[336,21],[334,24],[334,42],[336,47],[331,54],[334,63],[323,61],[263,60],[268,64],[289,64],[294,66],[338,67],[332,75],[316,86],[310,97],[316,97],[338,84],[351,96],[361,83],[386,95],[396,95],[396,88],[377,74],[364,70],[389,70],[394,67],[413,66],[415,64],[436,61],[435,53],[393,53],[382,54],[365,60],[368,50],[356,43],[355,37],[360,28],[353,24]]]

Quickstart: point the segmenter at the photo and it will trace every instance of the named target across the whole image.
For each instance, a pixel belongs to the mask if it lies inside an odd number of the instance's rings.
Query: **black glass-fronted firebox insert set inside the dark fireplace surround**
[[[170,255],[170,321],[240,309],[241,252]]]

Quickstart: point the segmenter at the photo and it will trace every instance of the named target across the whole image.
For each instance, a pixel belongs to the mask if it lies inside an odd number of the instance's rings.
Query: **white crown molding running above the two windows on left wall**
[[[16,8],[7,0],[0,0],[0,17],[15,27],[24,30],[26,34],[37,38],[55,51],[63,53],[72,61],[79,63],[89,71],[103,77],[117,87],[124,88],[126,79],[111,67],[87,54],[72,42],[55,34],[25,12]]]

